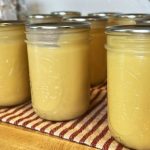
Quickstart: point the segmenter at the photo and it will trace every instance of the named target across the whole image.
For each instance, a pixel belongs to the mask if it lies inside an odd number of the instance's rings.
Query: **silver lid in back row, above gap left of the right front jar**
[[[121,13],[119,12],[96,12],[96,13],[89,13],[88,16],[99,16],[99,17],[112,17],[116,15],[120,15]]]

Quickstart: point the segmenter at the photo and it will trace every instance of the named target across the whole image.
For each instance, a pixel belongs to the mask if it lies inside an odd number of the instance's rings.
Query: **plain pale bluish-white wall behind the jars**
[[[30,13],[77,10],[83,14],[97,11],[150,13],[150,0],[26,0]]]

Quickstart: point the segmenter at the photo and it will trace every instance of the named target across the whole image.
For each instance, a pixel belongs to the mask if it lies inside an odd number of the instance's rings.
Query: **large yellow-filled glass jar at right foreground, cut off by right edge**
[[[124,145],[150,149],[150,26],[107,28],[108,122]]]

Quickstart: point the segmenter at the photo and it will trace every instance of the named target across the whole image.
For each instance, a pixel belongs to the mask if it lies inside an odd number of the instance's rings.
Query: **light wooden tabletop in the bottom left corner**
[[[0,122],[0,150],[96,150],[30,129]]]

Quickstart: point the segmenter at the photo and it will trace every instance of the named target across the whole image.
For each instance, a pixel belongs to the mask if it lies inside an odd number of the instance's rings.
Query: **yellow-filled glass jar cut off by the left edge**
[[[16,21],[0,22],[0,106],[30,98],[25,29]]]

